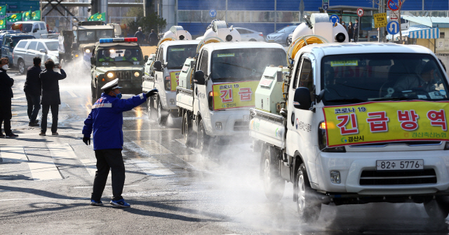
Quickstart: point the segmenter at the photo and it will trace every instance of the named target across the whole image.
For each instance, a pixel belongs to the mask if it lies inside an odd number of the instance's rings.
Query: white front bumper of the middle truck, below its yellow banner
[[[248,135],[248,109],[210,112],[210,119],[204,118],[208,135]],[[221,129],[220,129],[221,126]]]

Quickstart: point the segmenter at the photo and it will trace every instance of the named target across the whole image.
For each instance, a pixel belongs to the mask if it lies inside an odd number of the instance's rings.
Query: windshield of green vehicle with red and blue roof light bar
[[[111,48],[99,50],[96,55],[99,66],[142,65],[140,48]]]

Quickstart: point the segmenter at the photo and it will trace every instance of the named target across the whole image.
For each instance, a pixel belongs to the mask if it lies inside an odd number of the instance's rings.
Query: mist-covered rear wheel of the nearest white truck
[[[276,154],[273,147],[265,148],[262,152],[263,164],[262,172],[264,179],[265,196],[269,201],[280,201],[283,196],[286,181],[283,180],[279,173],[279,159],[276,159]]]

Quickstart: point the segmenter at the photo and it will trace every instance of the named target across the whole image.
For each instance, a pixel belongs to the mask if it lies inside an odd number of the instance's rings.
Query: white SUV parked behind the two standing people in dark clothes
[[[27,67],[33,65],[33,58],[39,56],[42,61],[51,59],[59,63],[58,39],[26,39],[21,40],[13,51],[14,65],[20,74],[27,72]],[[43,63],[41,63],[43,67]]]

